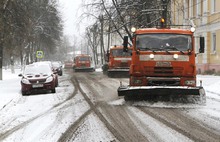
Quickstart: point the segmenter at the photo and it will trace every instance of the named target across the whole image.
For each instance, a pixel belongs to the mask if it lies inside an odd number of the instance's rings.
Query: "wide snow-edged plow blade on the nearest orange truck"
[[[118,96],[144,95],[204,95],[203,87],[183,86],[120,86]]]

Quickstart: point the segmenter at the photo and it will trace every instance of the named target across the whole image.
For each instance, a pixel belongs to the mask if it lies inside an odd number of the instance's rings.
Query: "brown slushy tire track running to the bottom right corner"
[[[205,127],[202,125],[202,122],[183,115],[174,109],[164,110],[143,107],[137,108],[194,141],[219,142],[220,140],[220,134],[215,133],[213,130]]]

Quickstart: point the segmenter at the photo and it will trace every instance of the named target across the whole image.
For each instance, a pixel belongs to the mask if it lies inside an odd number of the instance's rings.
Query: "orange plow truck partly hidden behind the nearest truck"
[[[103,73],[108,77],[128,77],[131,65],[132,48],[128,47],[128,51],[123,51],[123,46],[112,46],[107,52],[107,64],[102,69]]]

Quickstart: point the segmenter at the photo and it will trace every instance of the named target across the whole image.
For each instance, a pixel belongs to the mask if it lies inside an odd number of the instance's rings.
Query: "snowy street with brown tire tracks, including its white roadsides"
[[[101,72],[59,77],[55,94],[22,96],[20,78],[4,70],[0,81],[0,141],[219,141],[220,77],[198,75],[206,106],[127,103],[119,80]],[[73,78],[72,78],[73,77]]]

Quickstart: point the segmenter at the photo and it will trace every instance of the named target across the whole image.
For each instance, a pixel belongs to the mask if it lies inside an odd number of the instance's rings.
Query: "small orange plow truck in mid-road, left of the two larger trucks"
[[[95,71],[92,67],[92,58],[87,54],[79,54],[74,57],[73,69],[77,71]]]

